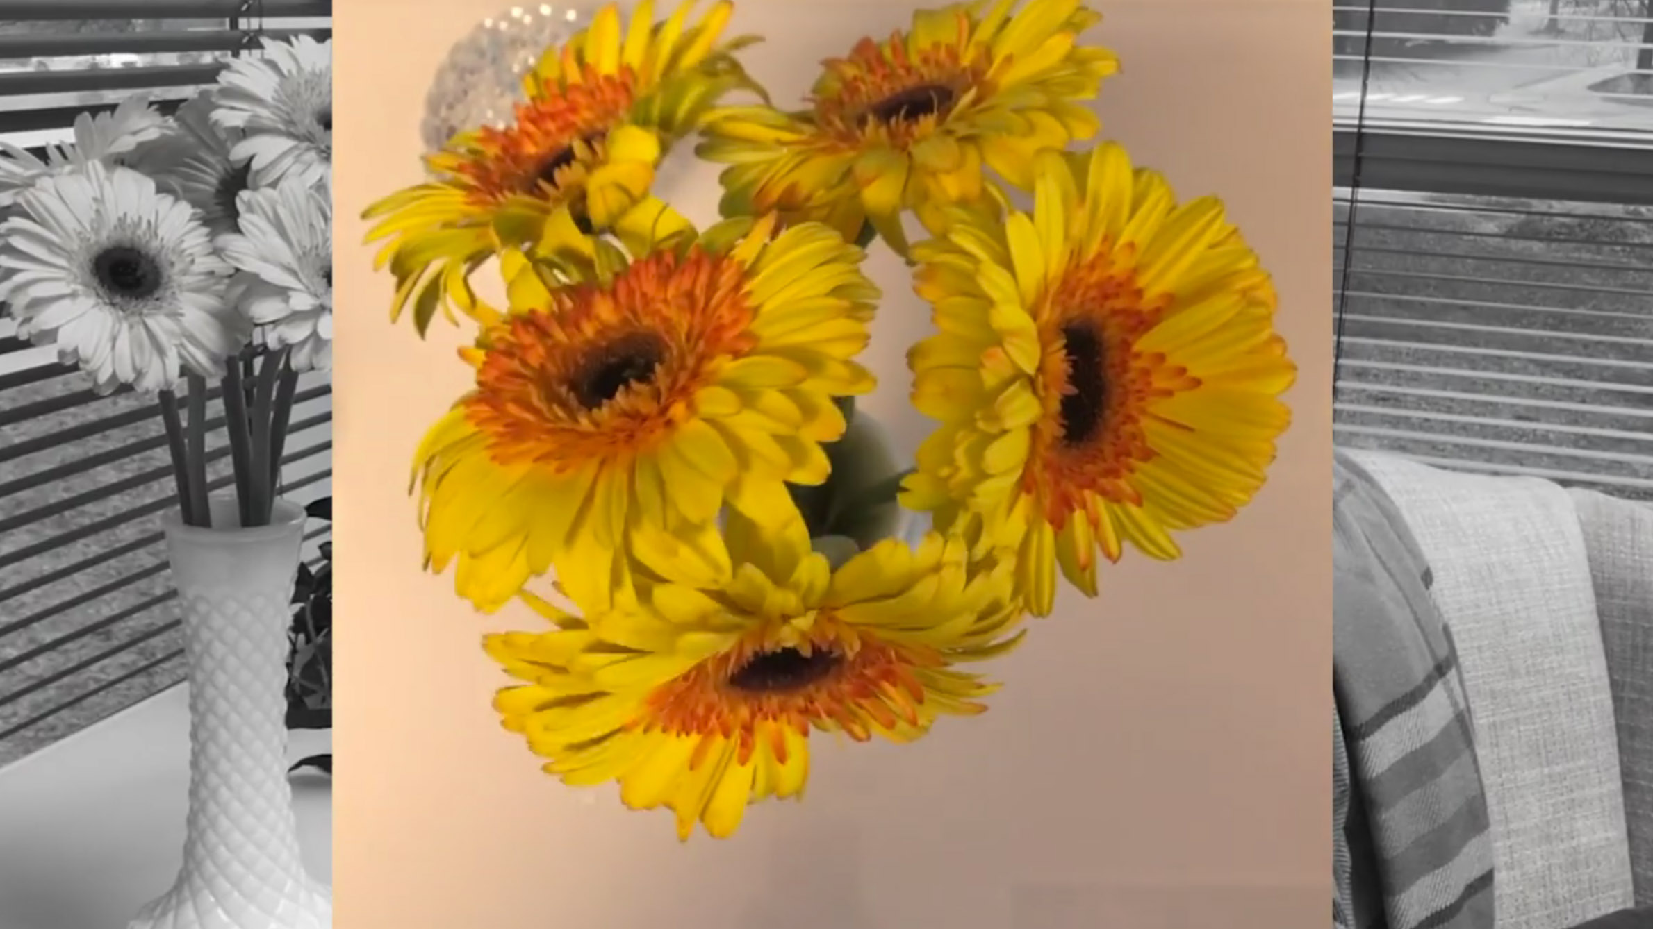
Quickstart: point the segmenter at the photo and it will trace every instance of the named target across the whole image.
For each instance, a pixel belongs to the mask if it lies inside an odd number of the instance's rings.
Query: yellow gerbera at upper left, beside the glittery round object
[[[717,40],[732,5],[689,23],[688,0],[665,23],[641,0],[628,28],[607,5],[590,28],[549,50],[524,78],[526,102],[504,129],[461,132],[426,157],[435,180],[374,203],[367,240],[397,279],[392,319],[413,304],[426,331],[436,309],[491,322],[469,274],[499,250],[565,241],[607,230],[640,202],[665,150],[693,132],[734,88],[752,88],[732,51],[752,40]]]

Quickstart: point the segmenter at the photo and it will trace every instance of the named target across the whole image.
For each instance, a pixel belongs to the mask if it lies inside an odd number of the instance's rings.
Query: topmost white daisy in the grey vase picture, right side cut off
[[[332,40],[264,40],[261,58],[238,58],[218,74],[213,122],[240,129],[231,160],[251,160],[253,187],[299,174],[311,182],[332,164]]]

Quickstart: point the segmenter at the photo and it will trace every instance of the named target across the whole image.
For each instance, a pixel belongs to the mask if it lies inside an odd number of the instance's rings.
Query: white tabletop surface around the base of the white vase
[[[0,767],[0,929],[124,929],[170,886],[188,807],[188,689]],[[289,760],[332,750],[293,732]],[[304,863],[332,881],[332,780],[293,775]]]

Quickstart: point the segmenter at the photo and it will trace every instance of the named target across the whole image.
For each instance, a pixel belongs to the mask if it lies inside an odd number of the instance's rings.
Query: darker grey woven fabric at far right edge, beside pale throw
[[[1607,676],[1618,716],[1618,765],[1636,906],[1653,908],[1653,507],[1572,491],[1590,550]],[[1646,914],[1653,926],[1653,914]]]

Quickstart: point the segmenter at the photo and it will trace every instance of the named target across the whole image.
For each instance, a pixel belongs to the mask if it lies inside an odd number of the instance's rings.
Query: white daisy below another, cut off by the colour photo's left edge
[[[293,370],[332,367],[332,192],[288,179],[240,197],[238,235],[218,251],[240,274],[233,299]]]

